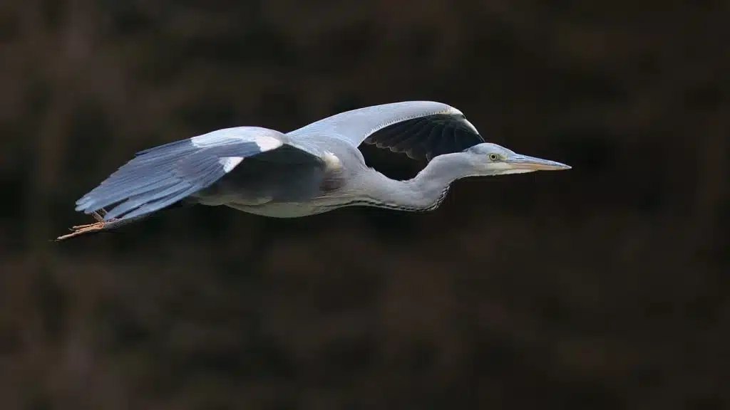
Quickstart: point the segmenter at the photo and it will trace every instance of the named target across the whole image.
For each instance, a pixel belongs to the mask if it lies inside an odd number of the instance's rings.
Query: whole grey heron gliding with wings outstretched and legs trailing
[[[388,178],[366,165],[362,144],[426,166],[411,179]],[[566,169],[571,166],[485,142],[448,104],[393,102],[339,112],[286,133],[221,128],[139,151],[76,201],[76,211],[96,222],[74,226],[56,240],[117,228],[179,204],[279,218],[344,206],[428,212],[457,179]]]

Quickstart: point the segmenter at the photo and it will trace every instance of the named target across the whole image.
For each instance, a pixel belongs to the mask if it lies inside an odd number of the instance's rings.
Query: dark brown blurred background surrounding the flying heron
[[[730,408],[729,12],[3,1],[0,409]],[[47,241],[138,150],[412,99],[574,169]]]

